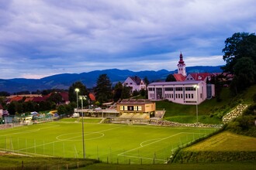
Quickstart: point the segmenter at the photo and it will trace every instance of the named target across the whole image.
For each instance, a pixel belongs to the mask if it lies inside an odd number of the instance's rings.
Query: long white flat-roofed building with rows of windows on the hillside
[[[170,100],[177,104],[200,104],[207,98],[204,81],[155,82],[147,86],[149,100]]]

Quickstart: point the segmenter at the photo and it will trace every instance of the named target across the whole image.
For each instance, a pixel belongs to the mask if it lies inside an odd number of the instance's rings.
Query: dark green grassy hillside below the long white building
[[[248,88],[244,93],[234,97],[229,88],[223,88],[220,100],[216,98],[199,104],[199,122],[205,124],[221,124],[221,118],[240,103],[251,104],[256,93],[256,85]],[[168,100],[157,101],[157,110],[166,110],[164,119],[181,123],[195,123],[195,105],[175,104]]]

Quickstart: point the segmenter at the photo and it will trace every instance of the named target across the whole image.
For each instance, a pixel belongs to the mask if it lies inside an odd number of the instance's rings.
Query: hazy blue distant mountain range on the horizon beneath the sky
[[[187,73],[220,73],[222,70],[221,66],[191,66],[186,67]],[[0,91],[7,91],[9,93],[15,93],[19,91],[36,91],[46,89],[68,89],[72,83],[81,81],[86,87],[95,87],[96,81],[99,75],[106,73],[113,84],[117,82],[123,82],[128,76],[139,76],[147,79],[150,82],[155,80],[165,80],[166,76],[175,71],[158,70],[158,71],[139,71],[134,72],[130,70],[95,70],[88,73],[62,73],[53,76],[46,76],[41,79],[23,79],[15,78],[9,80],[0,79]]]

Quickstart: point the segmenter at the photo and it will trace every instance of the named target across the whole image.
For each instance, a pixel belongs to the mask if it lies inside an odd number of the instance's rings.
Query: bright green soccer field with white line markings
[[[216,129],[85,123],[85,158],[119,164],[162,164],[178,146],[213,131]],[[82,126],[74,121],[55,121],[1,130],[0,150],[83,158]]]

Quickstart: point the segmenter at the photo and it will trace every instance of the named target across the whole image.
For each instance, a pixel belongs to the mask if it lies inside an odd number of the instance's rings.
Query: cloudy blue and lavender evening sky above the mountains
[[[219,66],[254,0],[0,0],[0,79]]]

